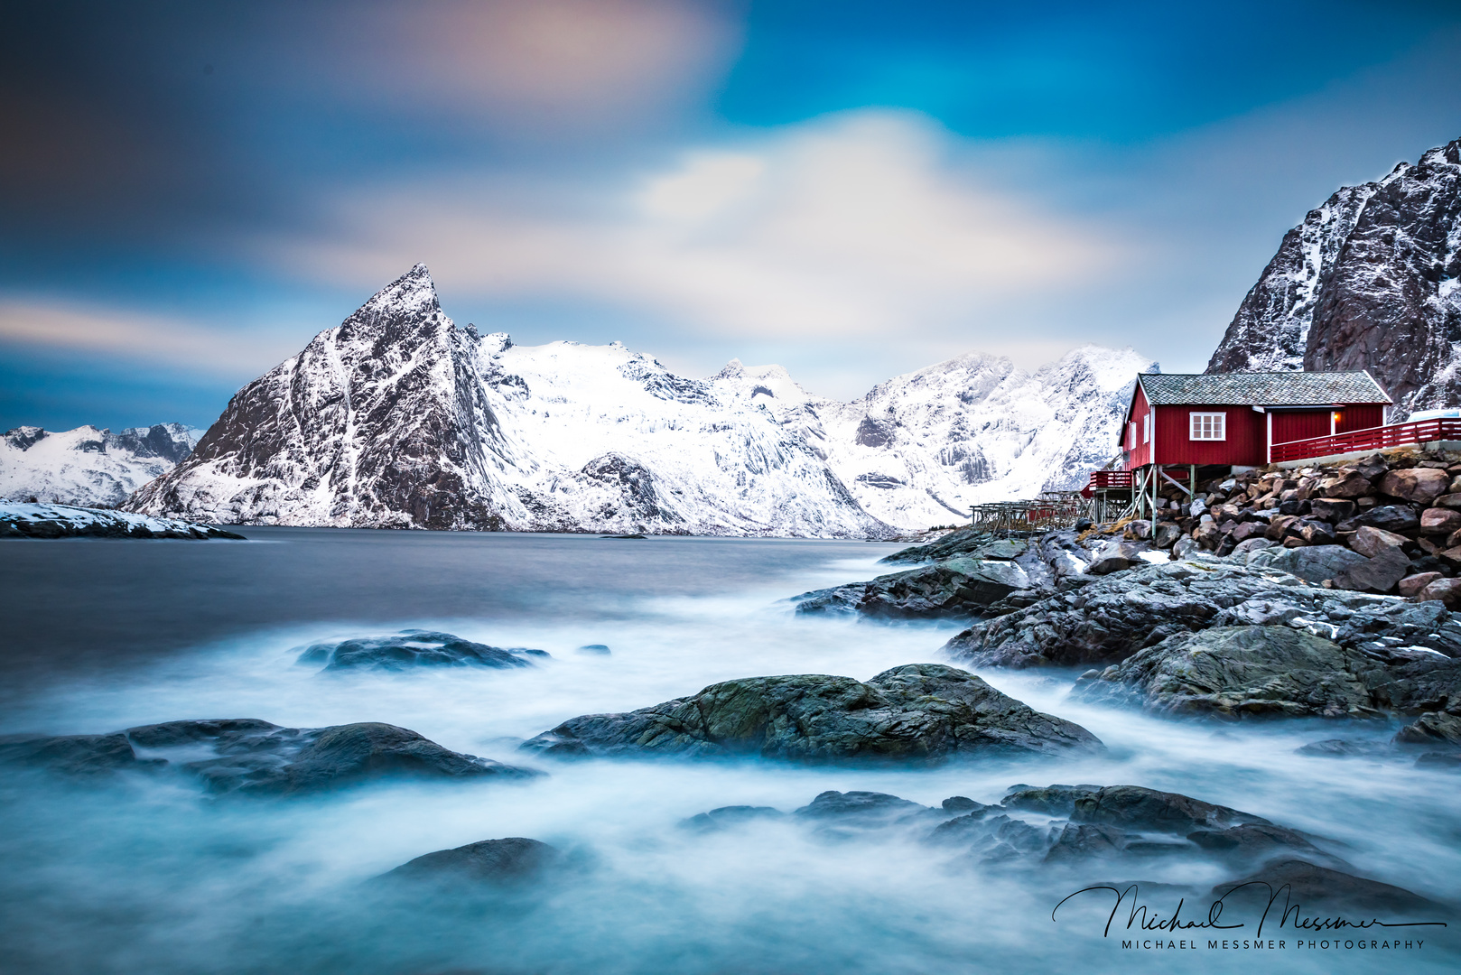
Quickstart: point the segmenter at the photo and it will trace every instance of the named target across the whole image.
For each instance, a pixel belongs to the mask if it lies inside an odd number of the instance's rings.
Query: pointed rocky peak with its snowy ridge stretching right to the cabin
[[[1148,365],[966,355],[853,403],[777,365],[456,327],[421,265],[254,380],[129,510],[224,523],[887,536],[1072,484]]]

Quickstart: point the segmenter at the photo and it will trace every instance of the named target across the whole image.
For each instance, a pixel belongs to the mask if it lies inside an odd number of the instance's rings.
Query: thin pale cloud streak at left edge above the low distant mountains
[[[224,377],[257,376],[301,345],[294,338],[210,329],[158,314],[26,298],[0,298],[0,342]]]

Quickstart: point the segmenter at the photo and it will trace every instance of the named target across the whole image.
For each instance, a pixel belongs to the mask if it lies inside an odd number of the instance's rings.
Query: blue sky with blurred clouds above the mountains
[[[1201,371],[1284,231],[1461,137],[1461,4],[0,0],[0,430],[209,425],[425,262],[457,323]]]

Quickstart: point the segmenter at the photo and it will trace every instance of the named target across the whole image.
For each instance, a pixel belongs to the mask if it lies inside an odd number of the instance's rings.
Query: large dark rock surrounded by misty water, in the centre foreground
[[[653,707],[573,718],[523,748],[557,756],[926,762],[1103,746],[1080,725],[1042,715],[967,671],[909,664],[865,684],[825,674],[725,681]]]

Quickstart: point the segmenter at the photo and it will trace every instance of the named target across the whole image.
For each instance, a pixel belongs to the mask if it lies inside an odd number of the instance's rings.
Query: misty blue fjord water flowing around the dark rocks
[[[1083,724],[1109,754],[941,767],[805,767],[524,757],[573,715],[625,710],[761,674],[868,678],[939,661],[948,624],[796,618],[785,598],[866,579],[869,542],[245,529],[248,542],[58,541],[0,548],[0,732],[80,734],[180,718],[320,726],[384,721],[549,772],[526,784],[378,784],[219,801],[181,776],[0,778],[0,963],[35,972],[1043,972],[1455,971],[1452,928],[1422,950],[1121,949],[1109,905],[1052,908],[1058,871],[982,867],[918,830],[837,836],[792,822],[703,835],[722,805],[789,811],[824,789],[929,805],[1017,782],[1185,792],[1343,843],[1356,873],[1461,895],[1455,778],[1311,759],[1305,741],[1389,726],[1221,726],[1065,699],[1069,674],[989,671]],[[329,674],[323,639],[437,629],[554,659],[532,669]],[[577,653],[603,643],[609,656]],[[539,890],[386,896],[421,854],[530,836],[573,870]],[[1338,849],[1338,848],[1337,848]],[[1211,886],[1202,862],[1140,880]],[[1175,903],[1153,898],[1164,911]],[[1202,911],[1188,909],[1185,917]],[[1119,925],[1118,925],[1119,927]],[[1251,931],[1249,924],[1249,931]],[[1134,933],[1128,933],[1131,937]],[[1240,933],[1248,936],[1248,933]],[[1150,934],[1148,934],[1150,937]],[[1176,936],[1183,937],[1183,936]],[[1191,943],[1192,936],[1185,936]],[[1284,936],[1275,936],[1284,937]],[[1384,937],[1384,936],[1373,936]],[[1332,944],[1334,941],[1331,941]]]

